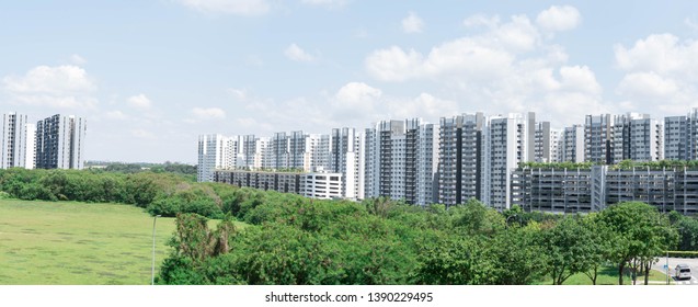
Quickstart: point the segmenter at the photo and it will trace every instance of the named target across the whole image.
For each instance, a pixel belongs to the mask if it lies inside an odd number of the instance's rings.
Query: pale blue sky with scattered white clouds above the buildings
[[[199,134],[698,106],[694,1],[2,1],[0,112],[88,118],[89,160]]]

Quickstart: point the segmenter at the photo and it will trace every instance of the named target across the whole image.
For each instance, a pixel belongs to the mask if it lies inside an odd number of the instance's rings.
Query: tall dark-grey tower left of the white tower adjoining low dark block
[[[482,113],[442,117],[438,126],[438,203],[482,198],[485,118]]]

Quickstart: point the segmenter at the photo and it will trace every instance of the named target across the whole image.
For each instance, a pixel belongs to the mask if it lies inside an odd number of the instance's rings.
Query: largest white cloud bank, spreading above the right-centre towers
[[[588,112],[607,110],[603,88],[588,66],[569,64],[564,48],[548,34],[573,29],[580,21],[572,7],[552,7],[535,21],[527,15],[501,19],[477,14],[464,20],[469,32],[465,36],[427,50],[400,46],[376,49],[366,57],[365,68],[384,82],[433,82],[439,94],[449,96],[386,98],[389,107],[402,103],[405,110],[420,105],[425,112],[435,110],[430,105],[495,114],[534,111],[545,112],[552,122],[577,122],[579,113],[571,111],[579,111],[581,103]]]

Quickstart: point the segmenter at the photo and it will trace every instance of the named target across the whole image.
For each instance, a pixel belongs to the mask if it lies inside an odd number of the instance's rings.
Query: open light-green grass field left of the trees
[[[0,200],[0,285],[150,284],[152,217],[118,204]],[[156,274],[173,218],[158,218]]]

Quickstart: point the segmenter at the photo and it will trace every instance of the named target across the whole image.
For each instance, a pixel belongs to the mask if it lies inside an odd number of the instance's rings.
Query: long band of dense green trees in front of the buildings
[[[0,170],[0,190],[176,217],[161,284],[562,284],[579,273],[595,284],[609,266],[619,284],[626,273],[646,283],[665,250],[698,250],[696,218],[643,203],[587,215],[500,213],[476,200],[449,208],[320,201],[172,173],[90,170]],[[209,218],[221,220],[216,229]]]

